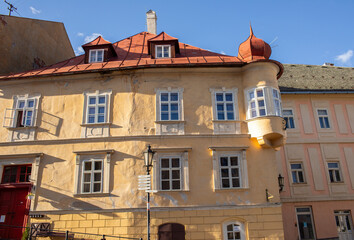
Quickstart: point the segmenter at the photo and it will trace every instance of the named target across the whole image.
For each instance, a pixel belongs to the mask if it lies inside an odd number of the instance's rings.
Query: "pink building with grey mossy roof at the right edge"
[[[285,239],[354,239],[354,68],[284,67]]]

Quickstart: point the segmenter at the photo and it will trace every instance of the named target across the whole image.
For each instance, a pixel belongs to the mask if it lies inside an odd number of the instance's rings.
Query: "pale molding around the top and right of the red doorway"
[[[38,201],[37,185],[38,185],[38,175],[39,175],[39,165],[43,159],[43,153],[25,153],[25,154],[9,154],[9,155],[0,155],[0,179],[3,177],[4,166],[9,165],[25,165],[31,164],[31,178],[30,182],[32,183],[31,193],[34,195],[34,199],[31,201],[30,211],[36,210]]]

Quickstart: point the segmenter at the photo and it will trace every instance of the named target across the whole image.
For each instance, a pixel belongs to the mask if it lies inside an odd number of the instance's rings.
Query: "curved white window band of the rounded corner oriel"
[[[247,119],[264,116],[281,116],[280,92],[273,87],[245,90]]]

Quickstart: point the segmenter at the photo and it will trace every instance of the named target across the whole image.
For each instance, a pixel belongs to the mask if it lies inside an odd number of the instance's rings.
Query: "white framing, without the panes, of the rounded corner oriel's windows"
[[[257,97],[257,90],[263,91],[262,97]],[[280,105],[280,112],[279,113],[277,113],[277,111],[276,111],[273,90],[276,90],[278,92],[279,98],[277,98],[277,99],[279,100],[279,105]],[[252,117],[252,114],[251,114],[251,98],[249,95],[251,92],[254,93],[254,100],[253,101],[255,102],[255,109],[256,109],[256,116],[255,117]],[[246,108],[247,120],[260,118],[260,117],[269,117],[269,116],[282,117],[282,101],[281,101],[281,95],[280,95],[279,89],[274,88],[274,87],[270,87],[270,86],[260,86],[260,87],[247,88],[244,90],[244,94],[245,94],[245,108]],[[264,107],[258,106],[258,100],[264,100]],[[260,109],[265,110],[264,116],[260,116],[260,114],[259,114]]]

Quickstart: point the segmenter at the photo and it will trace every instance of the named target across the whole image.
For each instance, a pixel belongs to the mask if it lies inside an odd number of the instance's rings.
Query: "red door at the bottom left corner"
[[[0,239],[21,239],[28,215],[28,188],[0,189]]]

